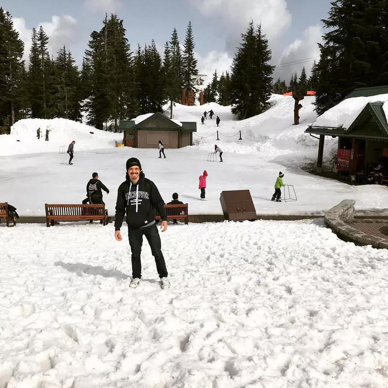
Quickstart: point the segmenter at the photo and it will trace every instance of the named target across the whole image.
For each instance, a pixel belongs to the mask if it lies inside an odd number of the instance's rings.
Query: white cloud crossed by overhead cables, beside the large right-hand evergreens
[[[287,46],[278,60],[277,64],[287,64],[294,61],[301,61],[307,58],[316,57],[316,62],[319,61],[319,47],[318,43],[322,43],[323,27],[322,25],[309,26],[304,32],[301,39],[295,39],[289,46]],[[296,65],[287,65],[284,67],[278,67],[274,72],[274,79],[280,77],[281,80],[285,80],[288,83],[291,79],[291,74],[297,73],[298,77],[303,69],[306,68],[307,77],[310,74],[313,59],[306,61],[305,63],[299,63]]]

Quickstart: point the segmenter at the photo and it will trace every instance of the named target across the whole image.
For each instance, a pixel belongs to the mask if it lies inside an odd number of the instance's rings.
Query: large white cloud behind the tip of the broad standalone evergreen
[[[234,52],[240,44],[240,34],[253,20],[262,26],[271,40],[278,38],[291,25],[291,13],[286,0],[188,0],[204,16],[214,18],[226,33],[226,49]]]

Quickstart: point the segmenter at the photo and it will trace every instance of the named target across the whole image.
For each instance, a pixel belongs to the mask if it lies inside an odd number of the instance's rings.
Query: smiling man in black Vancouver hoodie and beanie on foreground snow
[[[161,249],[161,238],[155,223],[154,211],[155,208],[161,215],[161,230],[164,232],[167,229],[167,215],[164,209],[164,201],[155,183],[145,177],[138,159],[128,159],[126,170],[126,180],[121,183],[117,192],[114,237],[117,241],[123,239],[120,228],[123,224],[124,214],[127,213],[128,239],[132,254],[132,281],[129,287],[136,288],[140,283],[142,277],[140,254],[142,251],[143,236],[146,236],[152,255],[155,258],[156,269],[161,279],[162,289],[170,288],[166,263]]]

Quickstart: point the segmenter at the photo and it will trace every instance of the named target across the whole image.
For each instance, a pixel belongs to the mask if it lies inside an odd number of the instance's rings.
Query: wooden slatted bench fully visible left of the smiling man
[[[55,221],[102,221],[108,224],[105,205],[64,205],[45,204],[46,226],[54,226]]]

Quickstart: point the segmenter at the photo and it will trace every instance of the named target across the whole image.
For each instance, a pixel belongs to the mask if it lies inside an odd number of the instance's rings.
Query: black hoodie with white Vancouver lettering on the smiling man
[[[154,182],[140,173],[138,182],[132,183],[127,174],[117,191],[114,229],[120,230],[125,213],[129,227],[147,226],[155,221],[154,209],[158,210],[162,221],[167,221],[164,201]]]

